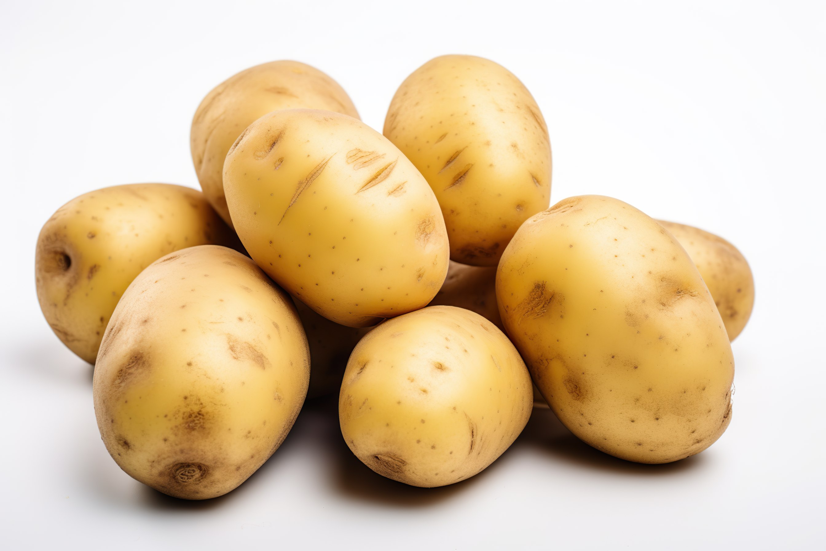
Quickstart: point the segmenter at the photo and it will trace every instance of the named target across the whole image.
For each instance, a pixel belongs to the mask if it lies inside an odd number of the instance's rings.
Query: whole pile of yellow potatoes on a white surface
[[[383,135],[319,70],[258,65],[203,99],[191,149],[202,192],[89,192],[36,247],[43,314],[140,482],[230,492],[331,392],[349,449],[420,487],[481,472],[546,403],[639,463],[729,425],[743,255],[611,197],[548,208],[548,127],[500,65],[430,60]]]

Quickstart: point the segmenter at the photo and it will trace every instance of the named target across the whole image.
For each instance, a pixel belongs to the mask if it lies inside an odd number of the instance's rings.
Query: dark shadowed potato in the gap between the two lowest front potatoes
[[[295,302],[307,343],[310,344],[310,389],[307,397],[316,398],[338,392],[350,353],[372,327],[339,325],[319,316],[296,298],[292,302]]]

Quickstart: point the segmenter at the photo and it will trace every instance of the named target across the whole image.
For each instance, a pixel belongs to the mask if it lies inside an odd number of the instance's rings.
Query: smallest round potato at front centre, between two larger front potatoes
[[[530,377],[506,336],[478,314],[429,306],[385,321],[350,355],[341,434],[384,477],[444,486],[493,463],[531,412]]]

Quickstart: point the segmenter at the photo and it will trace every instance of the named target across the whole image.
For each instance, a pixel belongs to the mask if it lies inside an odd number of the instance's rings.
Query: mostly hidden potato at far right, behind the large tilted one
[[[708,231],[676,222],[659,221],[686,249],[709,287],[723,318],[729,340],[743,331],[754,307],[752,268],[740,251]]]

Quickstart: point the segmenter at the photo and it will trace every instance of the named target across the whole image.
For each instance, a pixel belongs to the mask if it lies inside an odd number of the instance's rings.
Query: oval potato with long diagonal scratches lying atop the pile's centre
[[[376,325],[425,306],[444,282],[436,197],[394,145],[350,116],[261,117],[227,154],[224,191],[255,262],[331,321]]]

